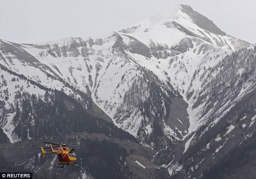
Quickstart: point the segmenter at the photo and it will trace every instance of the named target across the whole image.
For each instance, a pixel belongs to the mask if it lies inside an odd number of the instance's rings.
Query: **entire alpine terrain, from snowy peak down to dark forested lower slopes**
[[[105,38],[0,40],[0,167],[36,178],[253,178],[256,47],[180,4]],[[90,140],[87,140],[90,139]],[[55,168],[42,142],[78,142]]]

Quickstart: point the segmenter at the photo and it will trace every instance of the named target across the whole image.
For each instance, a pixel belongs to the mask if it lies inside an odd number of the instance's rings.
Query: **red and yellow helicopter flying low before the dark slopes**
[[[52,143],[52,142],[43,142],[47,145],[47,147],[41,147],[37,149],[41,149],[43,152],[43,157],[45,157],[46,153],[55,153],[58,156],[59,159],[59,165],[54,165],[57,168],[64,168],[64,165],[71,165],[71,166],[79,166],[78,163],[76,163],[76,154],[75,149],[72,148],[72,150],[69,150],[70,145],[66,145],[65,143],[59,144],[59,143]],[[54,146],[53,146],[54,145]],[[58,147],[58,148],[57,148]],[[45,148],[50,148],[50,152],[44,151]],[[57,150],[54,150],[53,148],[57,148]],[[62,166],[61,166],[62,165]]]

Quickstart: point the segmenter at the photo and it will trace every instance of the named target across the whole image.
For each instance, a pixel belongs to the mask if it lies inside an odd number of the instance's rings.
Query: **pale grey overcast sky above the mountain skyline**
[[[180,3],[227,34],[256,43],[256,0],[0,0],[0,39],[33,43],[104,37]]]

